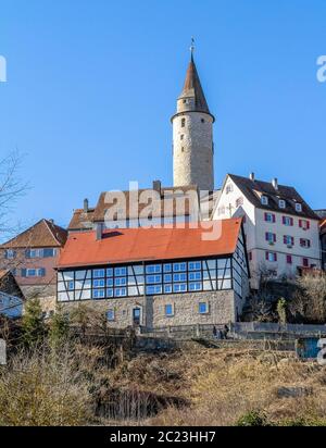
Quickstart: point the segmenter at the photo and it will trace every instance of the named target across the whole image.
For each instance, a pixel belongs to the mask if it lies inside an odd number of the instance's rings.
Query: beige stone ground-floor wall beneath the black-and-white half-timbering
[[[199,303],[208,303],[208,313],[200,314]],[[133,325],[133,310],[141,310],[140,324],[149,328],[195,324],[225,324],[235,322],[242,310],[241,300],[233,290],[180,294],[168,296],[91,300],[62,303],[67,310],[85,303],[98,312],[114,311],[110,327],[124,328]],[[172,316],[165,315],[165,306],[174,309]]]

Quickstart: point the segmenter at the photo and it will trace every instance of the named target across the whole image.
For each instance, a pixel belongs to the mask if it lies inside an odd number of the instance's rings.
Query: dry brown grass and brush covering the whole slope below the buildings
[[[326,368],[287,353],[193,345],[138,354],[115,369],[103,359],[102,349],[83,346],[60,358],[43,352],[13,358],[0,371],[0,424],[218,426],[235,425],[252,411],[273,424],[326,424]],[[281,388],[303,393],[286,397]],[[181,405],[171,405],[168,397]],[[167,408],[155,407],[155,398],[166,398]],[[114,412],[97,420],[96,402]],[[159,413],[147,416],[148,408]]]

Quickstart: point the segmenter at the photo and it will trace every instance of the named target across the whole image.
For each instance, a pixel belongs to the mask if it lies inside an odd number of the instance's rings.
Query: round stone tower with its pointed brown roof
[[[196,64],[193,48],[185,86],[177,99],[173,124],[174,186],[197,185],[200,190],[214,189],[213,123]]]

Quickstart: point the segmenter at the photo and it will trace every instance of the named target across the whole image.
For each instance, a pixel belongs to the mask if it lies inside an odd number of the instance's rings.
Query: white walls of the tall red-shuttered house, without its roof
[[[268,214],[268,216],[266,216]],[[298,267],[321,269],[318,221],[288,214],[279,209],[255,207],[227,176],[213,214],[214,220],[243,216],[252,287],[260,276],[294,278]],[[285,217],[288,224],[285,224]],[[269,220],[269,221],[267,221]],[[304,229],[309,222],[309,228]],[[302,240],[306,240],[303,247]]]

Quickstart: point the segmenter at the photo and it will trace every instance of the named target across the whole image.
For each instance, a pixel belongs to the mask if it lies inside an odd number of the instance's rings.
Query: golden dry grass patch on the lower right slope
[[[300,419],[326,424],[326,370],[317,364],[273,352],[206,350],[185,374],[189,381],[185,393],[192,406],[170,408],[149,423],[234,425],[258,410],[274,424]],[[301,387],[309,395],[283,398],[278,396],[281,387]]]

